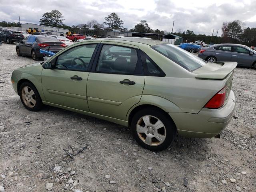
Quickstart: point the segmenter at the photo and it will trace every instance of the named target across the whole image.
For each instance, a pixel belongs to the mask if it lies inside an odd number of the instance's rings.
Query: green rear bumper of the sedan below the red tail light
[[[219,134],[232,119],[236,97],[231,90],[228,102],[219,109],[202,108],[198,114],[176,113],[169,115],[176,124],[178,133],[186,137],[211,138]]]

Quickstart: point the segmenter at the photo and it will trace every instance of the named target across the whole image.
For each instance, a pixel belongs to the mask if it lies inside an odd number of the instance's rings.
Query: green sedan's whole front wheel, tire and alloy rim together
[[[36,87],[30,82],[24,82],[19,89],[20,100],[24,107],[30,111],[38,111],[42,109],[42,100]]]

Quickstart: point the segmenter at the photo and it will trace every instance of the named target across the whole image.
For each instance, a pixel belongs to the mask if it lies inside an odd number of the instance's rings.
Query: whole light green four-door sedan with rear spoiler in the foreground
[[[14,70],[12,85],[28,110],[45,104],[128,126],[141,146],[160,151],[176,134],[220,136],[236,105],[236,65],[162,41],[94,39]]]

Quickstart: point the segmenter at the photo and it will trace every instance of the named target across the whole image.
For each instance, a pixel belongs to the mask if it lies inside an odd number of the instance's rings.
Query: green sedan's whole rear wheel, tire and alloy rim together
[[[168,148],[176,136],[174,122],[168,114],[155,108],[138,111],[132,118],[131,128],[135,140],[152,151]]]

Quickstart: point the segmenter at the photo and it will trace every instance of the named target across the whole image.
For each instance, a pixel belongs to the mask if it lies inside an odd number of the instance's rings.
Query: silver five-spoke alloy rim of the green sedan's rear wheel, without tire
[[[155,116],[141,117],[136,124],[136,131],[139,138],[150,146],[158,146],[166,139],[166,128]]]

